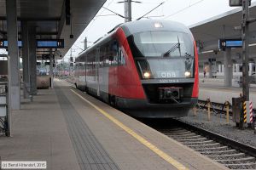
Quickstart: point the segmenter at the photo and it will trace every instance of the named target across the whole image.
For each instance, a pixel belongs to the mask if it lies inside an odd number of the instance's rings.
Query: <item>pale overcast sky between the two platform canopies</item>
[[[107,0],[103,5],[118,14],[124,15],[124,3],[118,3],[122,0]],[[256,0],[252,0],[255,2]],[[193,25],[201,20],[207,20],[218,14],[223,14],[234,9],[229,6],[229,0],[140,0],[142,3],[132,3],[132,20],[136,20],[149,10],[163,3],[152,13],[145,17],[160,20],[175,20],[186,26]],[[124,19],[113,14],[107,9],[102,8],[94,20],[92,20],[81,34],[75,45],[73,45],[73,57],[76,57],[84,48],[84,37],[87,37],[88,46],[95,42],[99,37],[103,37],[114,26],[124,22]],[[107,16],[102,16],[107,15]],[[145,18],[143,20],[148,20]],[[65,58],[69,59],[70,51]]]

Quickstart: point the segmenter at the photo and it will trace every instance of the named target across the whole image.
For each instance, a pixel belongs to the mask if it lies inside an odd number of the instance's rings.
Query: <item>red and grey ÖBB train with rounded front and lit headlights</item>
[[[75,85],[137,117],[187,116],[198,99],[195,40],[183,24],[116,26],[76,59]]]

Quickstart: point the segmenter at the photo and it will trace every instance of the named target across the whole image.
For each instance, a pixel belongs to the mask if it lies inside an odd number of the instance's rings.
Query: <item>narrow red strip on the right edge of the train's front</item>
[[[198,54],[197,54],[197,48],[196,43],[194,42],[194,50],[195,50],[195,82],[192,92],[192,98],[198,98],[199,93],[199,77],[198,77]]]

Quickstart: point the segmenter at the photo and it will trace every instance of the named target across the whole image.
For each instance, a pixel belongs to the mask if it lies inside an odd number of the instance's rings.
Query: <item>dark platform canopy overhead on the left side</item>
[[[1,39],[7,38],[5,1],[7,0],[0,0]],[[29,21],[36,26],[37,39],[65,39],[65,48],[61,49],[63,57],[105,2],[106,0],[70,0],[71,24],[67,25],[65,0],[17,0],[19,38],[21,39],[22,20]],[[71,34],[73,38],[70,38]],[[46,48],[38,49],[37,54],[40,56],[48,51]]]

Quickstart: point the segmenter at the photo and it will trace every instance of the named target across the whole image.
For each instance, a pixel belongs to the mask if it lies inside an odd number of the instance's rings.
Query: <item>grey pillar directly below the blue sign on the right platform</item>
[[[225,87],[231,87],[232,86],[232,78],[233,78],[233,63],[231,59],[231,49],[226,48],[224,52],[224,86]]]

